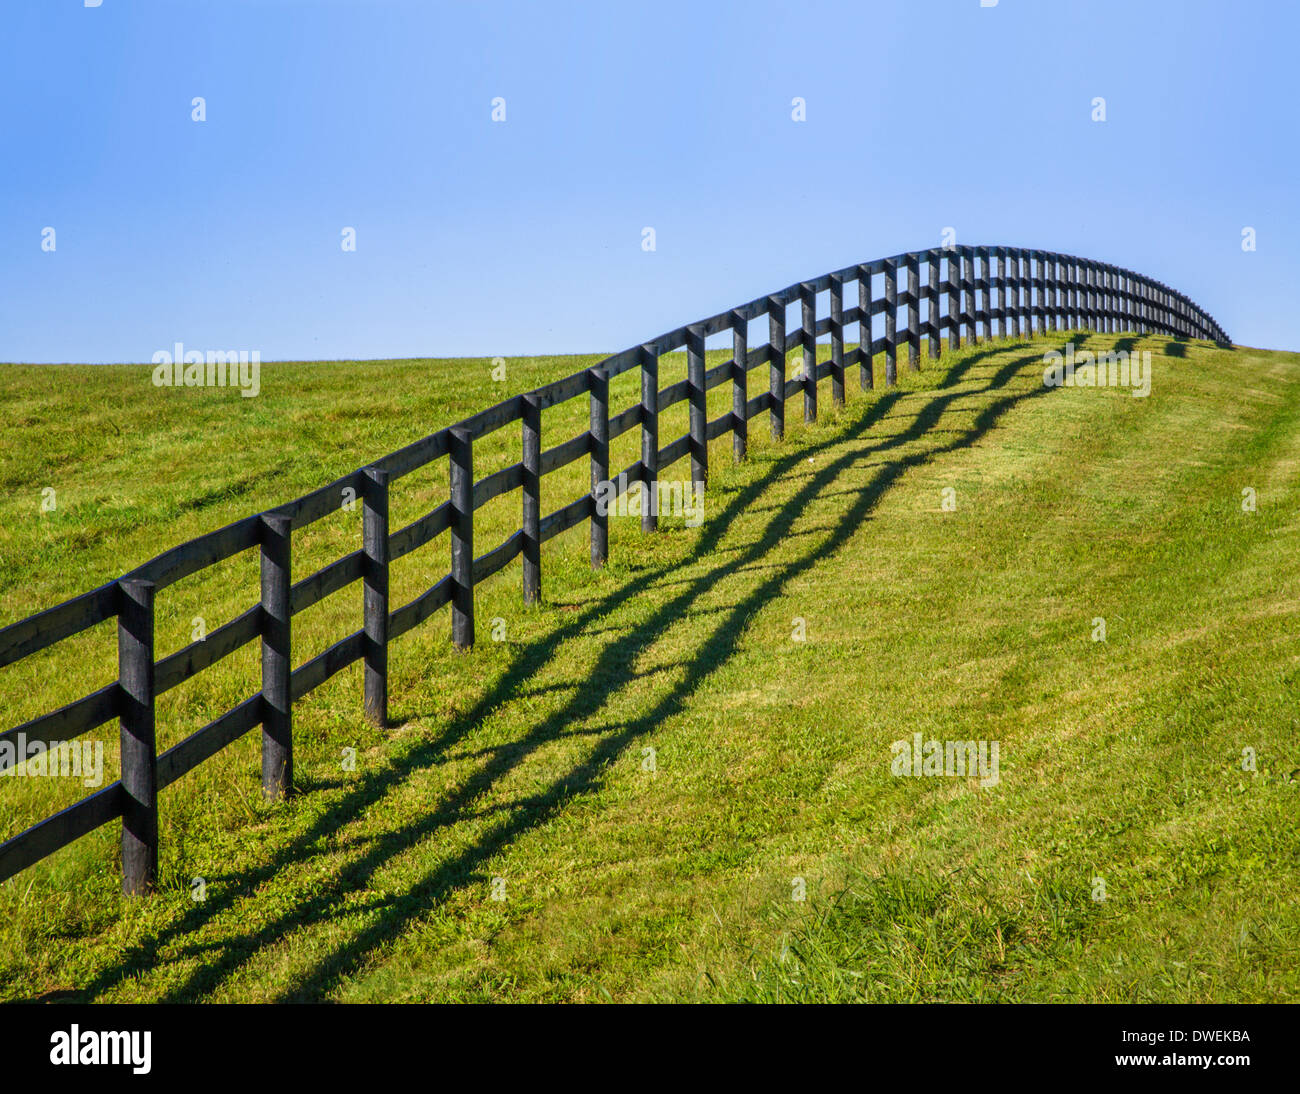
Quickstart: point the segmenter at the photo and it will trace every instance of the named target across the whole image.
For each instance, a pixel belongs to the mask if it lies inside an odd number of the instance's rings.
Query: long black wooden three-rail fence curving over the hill
[[[823,292],[828,296],[827,313],[818,314],[818,298]],[[798,322],[788,329],[786,313],[794,304],[798,304]],[[749,325],[763,318],[768,340],[750,346]],[[854,325],[858,346],[846,351],[845,329]],[[17,754],[20,741],[55,747],[113,719],[121,734],[118,781],[0,843],[0,881],[101,825],[121,820],[122,889],[127,894],[151,891],[157,877],[160,790],[261,726],[263,793],[269,799],[291,793],[292,704],[298,699],[361,661],[364,713],[374,724],[386,725],[387,655],[393,639],[450,604],[452,643],[462,650],[471,647],[474,586],[521,557],[524,602],[536,603],[542,583],[541,544],[582,521],[590,526],[592,565],[606,561],[608,528],[606,512],[597,504],[598,487],[603,485],[607,491],[612,487],[618,496],[642,483],[649,494],[666,468],[688,456],[692,481],[702,483],[708,476],[710,440],[732,434],[733,455],[744,459],[749,424],[758,414],[767,413],[771,435],[780,440],[785,433],[785,404],[802,395],[802,417],[815,421],[823,379],[831,379],[831,399],[840,405],[846,375],[854,366],[861,387],[871,390],[878,378],[875,359],[881,359],[880,378],[888,387],[897,382],[900,353],[906,355],[907,368],[919,369],[922,347],[927,347],[931,359],[937,359],[945,333],[948,348],[956,350],[963,342],[993,338],[994,325],[1000,338],[1079,329],[1230,343],[1214,318],[1190,299],[1132,270],[1050,251],[954,246],[878,259],[798,282],[624,350],[595,368],[506,399],[303,498],[164,551],[117,581],[0,630],[0,668],[4,668],[96,624],[116,620],[118,629],[117,680],[0,733],[0,772],[23,761]],[[725,334],[732,338],[732,359],[706,368],[706,339]],[[826,338],[831,359],[818,364],[818,342]],[[686,378],[660,388],[659,359],[679,351],[686,355]],[[797,374],[789,377],[786,357],[793,351],[800,351],[801,361]],[[759,382],[750,394],[749,374],[764,365],[767,390]],[[610,381],[636,368],[641,369],[640,399],[612,411]],[[710,421],[706,395],[725,383],[732,385],[732,409]],[[578,398],[589,400],[589,427],[543,447],[542,411]],[[662,444],[659,416],[677,403],[688,404],[689,430]],[[474,442],[507,426],[521,430],[523,459],[476,478]],[[611,473],[610,442],[638,426],[641,459]],[[393,481],[443,456],[450,499],[412,524],[390,529]],[[592,492],[543,516],[542,477],[584,457],[590,463]],[[515,490],[521,496],[521,526],[503,543],[476,555],[474,511]],[[292,582],[294,533],[337,511],[344,498],[361,502],[361,544]],[[651,531],[658,516],[653,507],[644,509],[650,511],[641,515],[642,529]],[[389,603],[391,561],[443,533],[451,541],[451,572],[410,603],[394,608]],[[153,650],[157,594],[181,578],[252,548],[260,551],[261,559],[260,603],[205,639],[157,659]],[[364,592],[360,629],[294,668],[294,616],[356,582],[361,582]],[[159,755],[156,698],[254,641],[261,646],[260,691]]]

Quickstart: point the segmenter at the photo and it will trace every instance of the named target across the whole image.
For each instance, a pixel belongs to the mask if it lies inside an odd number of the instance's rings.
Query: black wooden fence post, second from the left
[[[292,522],[261,516],[261,795],[274,802],[294,789],[294,708],[290,628]]]

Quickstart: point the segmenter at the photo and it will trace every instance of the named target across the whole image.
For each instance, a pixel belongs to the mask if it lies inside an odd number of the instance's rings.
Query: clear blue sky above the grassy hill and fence
[[[1296,350],[1297,31],[1209,0],[12,4],[0,360],[612,352],[945,226]]]

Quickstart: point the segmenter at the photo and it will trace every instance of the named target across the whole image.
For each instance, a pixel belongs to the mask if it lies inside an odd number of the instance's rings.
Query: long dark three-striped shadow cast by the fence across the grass
[[[942,388],[956,386],[956,383],[958,383],[978,361],[993,353],[1004,353],[1009,348],[1015,347],[1009,347],[1005,343],[997,344],[983,352],[971,353],[962,359],[952,366],[949,375],[944,381]],[[1036,355],[1009,363],[998,370],[993,382],[991,382],[988,387],[980,388],[979,391],[992,391],[1004,386],[1024,364],[1034,360],[1034,356]],[[1039,391],[1043,390],[1046,388],[1040,388]],[[979,391],[967,394],[979,394]],[[1037,391],[1034,394],[1037,394]],[[633,596],[644,592],[647,586],[667,577],[672,570],[677,569],[677,566],[689,565],[692,561],[698,561],[714,555],[718,542],[725,535],[736,517],[750,509],[753,503],[757,502],[768,489],[775,477],[779,477],[783,472],[789,472],[796,465],[801,464],[810,451],[815,452],[824,447],[842,444],[862,437],[862,434],[889,414],[900,398],[901,392],[898,391],[884,394],[855,424],[845,431],[828,438],[819,446],[814,446],[811,448],[806,447],[798,452],[790,452],[779,460],[775,460],[771,472],[763,477],[763,481],[751,483],[737,491],[727,507],[706,524],[705,531],[697,541],[692,556],[685,563],[670,561],[659,568],[646,570],[644,574],[640,574],[629,581],[620,590],[616,590],[603,598],[601,602],[593,604],[566,625],[558,628],[550,635],[543,639],[538,639],[528,647],[524,647],[520,656],[504,673],[502,673],[497,683],[482,696],[482,699],[480,699],[480,702],[476,703],[471,711],[467,711],[464,715],[448,724],[443,733],[441,733],[437,738],[412,748],[402,756],[399,764],[395,764],[386,770],[363,777],[359,781],[359,785],[350,790],[348,794],[339,802],[334,803],[332,808],[318,817],[307,832],[298,835],[290,841],[289,845],[281,848],[270,863],[256,871],[242,874],[239,878],[242,882],[239,887],[231,886],[231,889],[224,893],[222,897],[211,899],[204,906],[196,906],[166,930],[160,932],[157,935],[148,939],[148,942],[140,943],[134,950],[129,951],[122,956],[121,961],[114,968],[107,969],[94,982],[88,984],[84,989],[84,994],[94,997],[105,987],[121,982],[131,974],[133,969],[138,969],[151,963],[151,959],[156,956],[157,951],[168,942],[198,929],[207,921],[211,921],[214,916],[220,915],[222,911],[233,908],[240,897],[247,895],[247,893],[257,885],[268,881],[280,869],[300,860],[300,858],[318,842],[321,835],[335,832],[342,824],[355,819],[358,812],[364,809],[365,806],[378,802],[385,794],[389,793],[389,790],[393,789],[395,783],[402,782],[412,769],[436,763],[445,750],[460,741],[477,724],[488,709],[499,704],[503,699],[517,694],[517,689],[542,667],[545,667],[566,642],[580,635],[589,641],[590,625],[593,622],[614,613]],[[286,932],[302,926],[306,922],[318,921],[322,917],[328,917],[339,894],[354,891],[356,887],[364,887],[365,880],[369,878],[374,871],[386,863],[393,855],[399,854],[400,851],[420,842],[438,828],[450,824],[458,817],[463,817],[465,815],[467,806],[472,803],[474,798],[477,798],[484,790],[489,789],[499,777],[514,768],[525,756],[536,751],[536,748],[541,747],[541,744],[559,735],[559,730],[575,719],[580,719],[599,709],[612,690],[621,686],[621,673],[618,672],[621,665],[628,664],[640,651],[653,644],[658,635],[662,634],[670,624],[675,622],[684,615],[692,602],[697,600],[707,590],[716,586],[719,581],[731,576],[741,566],[751,565],[755,560],[762,559],[768,552],[770,547],[789,531],[790,525],[807,502],[811,500],[811,498],[815,496],[815,494],[826,485],[828,485],[845,466],[850,463],[861,460],[863,456],[871,455],[872,452],[887,451],[918,439],[931,430],[933,424],[956,398],[961,398],[961,394],[950,392],[948,395],[931,399],[916,414],[915,421],[906,431],[889,438],[880,444],[868,446],[866,450],[854,450],[853,452],[841,456],[835,463],[820,468],[819,472],[800,490],[796,498],[786,502],[777,511],[777,516],[774,517],[772,522],[768,525],[767,533],[758,543],[753,544],[744,552],[734,553],[724,565],[718,566],[714,572],[701,578],[698,582],[690,583],[686,590],[656,612],[655,617],[646,625],[640,626],[636,633],[628,634],[606,647],[606,650],[601,654],[598,667],[592,673],[592,681],[606,681],[603,685],[597,683],[595,686],[585,687],[580,695],[575,696],[564,707],[564,709],[546,717],[542,722],[534,726],[524,739],[514,743],[510,748],[503,748],[497,752],[493,760],[486,764],[482,770],[477,772],[459,790],[452,793],[434,812],[422,817],[420,821],[408,825],[406,829],[386,833],[381,839],[373,841],[367,854],[359,860],[350,863],[342,874],[334,878],[333,884],[329,885],[325,891],[316,894],[309,902],[296,906],[274,922],[261,928],[254,935],[225,943],[226,951],[220,959],[216,959],[212,964],[196,971],[185,984],[173,989],[168,994],[168,998],[170,1000],[202,998],[204,994],[211,991],[212,987],[222,982],[230,973],[234,972],[235,968],[243,964],[247,956],[251,956],[251,954],[260,947],[273,943],[278,938],[283,937]],[[1005,412],[1005,409],[1009,409],[1010,405],[1023,398],[1027,396],[1018,396],[1017,399],[1002,400],[1000,404],[996,404],[1000,409],[997,409],[992,417],[989,413],[993,408],[985,409],[985,412],[976,418],[976,426],[968,430],[961,440],[954,440],[948,446],[933,450],[933,452],[918,453],[881,468],[878,473],[876,483],[863,491],[850,513],[841,520],[840,530],[835,535],[835,546],[838,546],[838,543],[841,543],[848,534],[852,534],[852,528],[854,528],[866,516],[866,512],[875,505],[879,495],[888,489],[888,486],[892,485],[909,466],[931,459],[932,455],[939,452],[953,451],[958,447],[970,444],[983,431],[985,431],[992,422]],[[485,837],[473,848],[468,848],[452,861],[430,873],[415,887],[413,891],[400,899],[399,903],[404,906],[404,911],[399,913],[398,908],[390,910],[390,913],[385,916],[382,924],[356,935],[348,942],[348,945],[341,947],[341,950],[330,958],[322,960],[316,971],[304,973],[299,977],[295,987],[290,989],[289,995],[292,998],[321,998],[329,990],[330,985],[335,984],[338,978],[346,974],[350,968],[354,968],[355,964],[374,945],[384,941],[384,938],[390,937],[394,930],[400,926],[400,924],[419,913],[419,911],[426,908],[429,902],[437,899],[439,894],[446,893],[447,889],[452,887],[458,882],[463,882],[467,874],[472,873],[473,868],[482,863],[486,856],[497,854],[497,851],[506,846],[511,839],[529,828],[545,822],[549,816],[551,816],[575,794],[585,793],[595,786],[599,781],[599,772],[610,757],[618,755],[619,751],[627,747],[628,742],[646,731],[646,729],[653,726],[658,720],[668,716],[673,709],[680,709],[684,696],[689,695],[690,689],[698,683],[701,674],[711,672],[718,667],[718,664],[722,663],[722,660],[725,660],[725,656],[729,656],[729,651],[734,646],[734,638],[740,633],[737,628],[744,629],[744,621],[746,621],[754,611],[766,603],[767,599],[775,595],[775,592],[779,591],[779,589],[789,581],[792,576],[802,572],[811,565],[812,561],[823,556],[824,548],[807,555],[800,563],[786,566],[784,573],[779,573],[764,582],[758,592],[748,598],[742,608],[733,609],[727,621],[724,621],[723,625],[714,631],[706,642],[707,652],[693,660],[688,680],[681,686],[675,689],[675,691],[667,696],[655,708],[655,711],[624,726],[621,733],[603,742],[592,757],[575,768],[563,780],[558,780],[547,791],[541,795],[530,795],[529,803],[534,806],[533,812],[530,812],[526,817],[516,816],[514,821],[506,824],[489,837]],[[737,611],[742,612],[741,621],[738,622]],[[394,916],[398,916],[398,919],[394,919]],[[207,948],[208,947],[204,947],[204,950]]]

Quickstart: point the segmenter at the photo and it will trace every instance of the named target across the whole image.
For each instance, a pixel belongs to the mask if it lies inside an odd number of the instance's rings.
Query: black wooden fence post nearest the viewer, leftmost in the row
[[[122,765],[122,893],[152,893],[159,873],[157,747],[153,712],[152,581],[117,583],[117,683]]]

